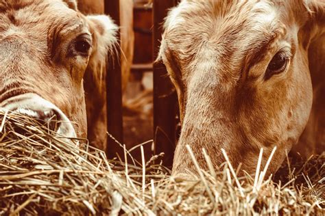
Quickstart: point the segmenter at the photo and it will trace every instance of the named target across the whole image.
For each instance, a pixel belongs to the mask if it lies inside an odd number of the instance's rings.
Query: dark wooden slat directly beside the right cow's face
[[[176,0],[154,0],[154,60],[157,57],[163,21],[168,9],[176,5]],[[154,141],[155,153],[165,152],[164,165],[171,166],[176,146],[177,96],[167,77],[167,70],[162,63],[154,64]]]

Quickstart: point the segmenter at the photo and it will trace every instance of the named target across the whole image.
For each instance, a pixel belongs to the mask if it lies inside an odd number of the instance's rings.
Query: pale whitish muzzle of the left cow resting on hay
[[[34,93],[20,94],[4,100],[0,107],[3,111],[12,111],[29,118],[40,120],[56,130],[62,137],[76,137],[73,124],[66,115],[53,103]],[[53,126],[56,125],[56,126]]]

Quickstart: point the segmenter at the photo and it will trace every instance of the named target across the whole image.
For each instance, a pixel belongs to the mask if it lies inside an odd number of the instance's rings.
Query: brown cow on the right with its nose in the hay
[[[202,148],[215,166],[224,148],[249,173],[262,147],[265,164],[277,146],[269,173],[293,146],[324,151],[324,25],[324,0],[183,0],[173,8],[160,47],[182,121],[173,174],[195,171],[186,144],[202,167]]]

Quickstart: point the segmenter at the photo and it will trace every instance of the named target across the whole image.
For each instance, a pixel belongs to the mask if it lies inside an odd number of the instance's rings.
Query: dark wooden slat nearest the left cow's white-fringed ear
[[[120,25],[119,0],[105,0],[105,14]],[[117,34],[120,41],[120,32]],[[108,56],[106,66],[106,94],[107,94],[107,130],[115,139],[123,143],[123,117],[122,117],[122,87],[121,87],[121,51]],[[123,155],[123,149],[117,142],[108,137],[106,154],[108,158],[116,157],[116,153]]]

